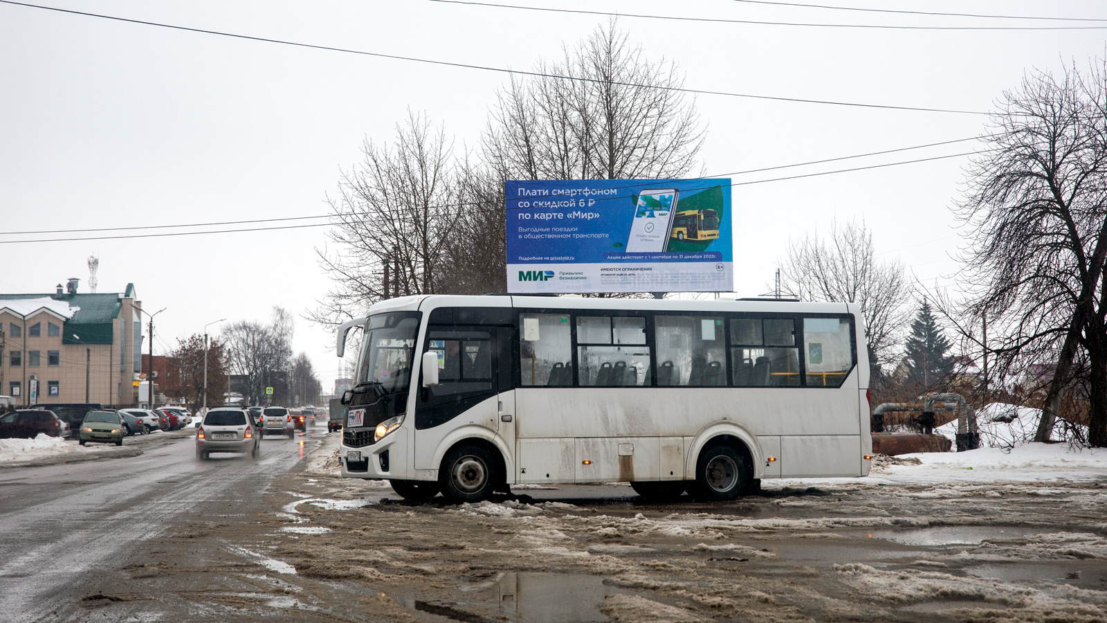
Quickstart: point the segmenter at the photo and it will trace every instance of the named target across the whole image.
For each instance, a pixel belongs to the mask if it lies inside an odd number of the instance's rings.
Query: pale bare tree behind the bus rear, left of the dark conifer
[[[865,222],[830,222],[830,236],[818,232],[788,246],[780,265],[783,285],[801,300],[857,303],[865,317],[872,381],[883,377],[882,366],[897,356],[897,345],[910,317],[911,287],[903,265],[880,261],[872,232]]]

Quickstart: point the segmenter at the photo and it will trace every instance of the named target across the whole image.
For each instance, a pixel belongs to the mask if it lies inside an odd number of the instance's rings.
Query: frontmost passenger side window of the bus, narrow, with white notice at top
[[[519,314],[519,385],[572,385],[568,314]]]

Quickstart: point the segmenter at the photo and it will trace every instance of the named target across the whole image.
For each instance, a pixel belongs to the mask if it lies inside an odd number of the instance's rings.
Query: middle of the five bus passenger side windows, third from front
[[[723,319],[706,316],[658,316],[658,385],[726,385]]]

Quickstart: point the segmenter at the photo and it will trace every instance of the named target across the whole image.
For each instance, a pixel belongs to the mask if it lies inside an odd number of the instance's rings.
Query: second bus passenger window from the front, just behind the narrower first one
[[[582,387],[652,385],[645,318],[578,316],[577,345]]]

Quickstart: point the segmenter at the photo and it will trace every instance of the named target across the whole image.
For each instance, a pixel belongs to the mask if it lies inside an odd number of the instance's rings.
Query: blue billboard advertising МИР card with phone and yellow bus
[[[731,181],[508,181],[507,290],[731,292]]]

